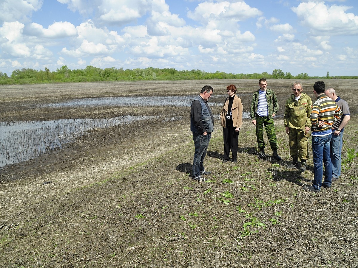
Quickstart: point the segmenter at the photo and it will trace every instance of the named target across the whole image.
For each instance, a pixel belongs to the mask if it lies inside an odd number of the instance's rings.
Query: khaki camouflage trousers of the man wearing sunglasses
[[[303,129],[290,128],[289,144],[291,157],[308,160],[308,138]]]

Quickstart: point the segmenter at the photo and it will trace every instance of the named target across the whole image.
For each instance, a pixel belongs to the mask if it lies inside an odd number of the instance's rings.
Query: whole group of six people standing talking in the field
[[[253,93],[250,109],[252,124],[256,128],[258,155],[266,158],[263,129],[272,149],[272,157],[282,160],[277,154],[277,138],[274,117],[279,110],[279,103],[273,90],[267,88],[267,80],[259,80],[260,88]],[[312,136],[312,152],[314,164],[313,185],[304,189],[320,192],[321,187],[329,188],[332,182],[338,180],[341,173],[341,151],[343,145],[344,126],[350,119],[349,106],[346,101],[336,95],[333,88],[325,89],[323,81],[313,85],[313,93],[317,100],[312,103],[310,96],[303,93],[302,84],[297,81],[292,84],[292,94],[285,104],[284,125],[289,135],[290,155],[292,163],[287,168],[297,168],[306,171],[309,158],[308,144]],[[228,97],[221,109],[220,119],[223,127],[224,156],[223,163],[230,160],[237,163],[238,135],[242,126],[242,102],[236,95],[235,85],[227,86]],[[205,170],[203,162],[214,132],[214,118],[208,105],[214,89],[206,85],[200,94],[192,101],[190,110],[190,130],[193,132],[194,160],[193,179],[206,181],[203,175],[211,174]],[[311,133],[309,131],[311,130]],[[324,171],[323,171],[324,163]],[[322,178],[324,180],[322,182]]]

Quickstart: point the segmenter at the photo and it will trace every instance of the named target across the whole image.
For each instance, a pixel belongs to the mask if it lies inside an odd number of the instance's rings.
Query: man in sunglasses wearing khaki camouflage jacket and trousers
[[[293,159],[292,164],[287,167],[305,172],[309,157],[308,137],[311,128],[312,100],[302,91],[303,86],[299,81],[292,84],[291,97],[286,100],[284,123],[286,133],[289,135],[290,154]]]

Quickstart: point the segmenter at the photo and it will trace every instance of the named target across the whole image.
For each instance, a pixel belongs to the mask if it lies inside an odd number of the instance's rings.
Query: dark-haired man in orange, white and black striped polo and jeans
[[[310,120],[312,123],[312,153],[314,165],[314,179],[312,186],[304,189],[311,192],[320,192],[321,187],[329,188],[332,184],[332,161],[330,157],[330,142],[332,125],[342,116],[342,111],[335,102],[324,94],[325,85],[318,81],[313,85],[313,93],[317,100],[312,105]],[[324,182],[322,183],[324,163]]]

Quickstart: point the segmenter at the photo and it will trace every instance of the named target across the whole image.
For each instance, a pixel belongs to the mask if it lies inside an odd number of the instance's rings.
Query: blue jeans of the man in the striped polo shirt
[[[313,188],[320,190],[322,186],[322,174],[324,163],[324,184],[330,187],[332,184],[332,162],[330,157],[330,144],[332,134],[326,136],[312,136],[312,153],[314,165]]]

